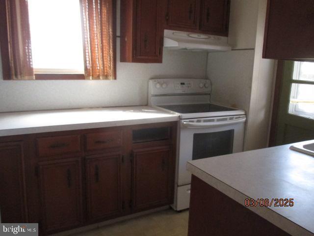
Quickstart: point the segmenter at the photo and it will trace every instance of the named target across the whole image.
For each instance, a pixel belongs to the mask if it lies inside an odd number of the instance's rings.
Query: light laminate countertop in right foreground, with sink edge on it
[[[247,208],[292,236],[314,236],[314,157],[290,146],[189,161],[186,167],[243,206],[245,199],[293,199],[293,207]]]

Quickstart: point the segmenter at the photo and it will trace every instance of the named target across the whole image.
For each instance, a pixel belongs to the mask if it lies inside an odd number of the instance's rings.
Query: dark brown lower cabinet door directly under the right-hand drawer
[[[90,221],[116,217],[122,213],[120,154],[86,158],[87,212]]]

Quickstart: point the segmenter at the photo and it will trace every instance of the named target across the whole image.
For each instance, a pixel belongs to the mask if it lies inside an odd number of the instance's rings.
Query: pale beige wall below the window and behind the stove
[[[117,24],[119,35],[119,14]],[[150,78],[206,76],[205,52],[165,50],[162,64],[120,63],[119,40],[116,81],[3,81],[0,68],[0,112],[146,105]]]

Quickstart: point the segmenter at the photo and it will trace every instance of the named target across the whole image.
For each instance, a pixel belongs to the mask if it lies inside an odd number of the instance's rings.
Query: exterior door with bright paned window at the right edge
[[[285,61],[276,145],[314,139],[314,62]]]

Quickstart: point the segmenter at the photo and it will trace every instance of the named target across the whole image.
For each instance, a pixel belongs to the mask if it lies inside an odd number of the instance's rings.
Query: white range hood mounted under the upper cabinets
[[[227,40],[227,37],[222,36],[165,29],[163,46],[168,49],[189,51],[231,51]]]

